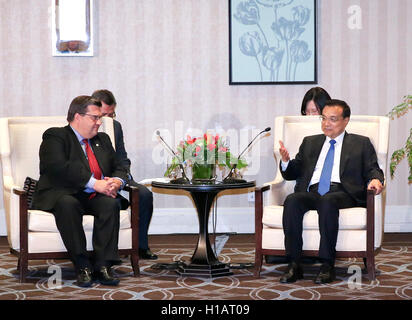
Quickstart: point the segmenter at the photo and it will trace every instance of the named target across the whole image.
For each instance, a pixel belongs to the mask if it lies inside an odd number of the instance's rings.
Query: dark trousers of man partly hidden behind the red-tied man
[[[153,193],[134,180],[129,185],[139,188],[139,248],[148,249],[148,230],[153,215]]]

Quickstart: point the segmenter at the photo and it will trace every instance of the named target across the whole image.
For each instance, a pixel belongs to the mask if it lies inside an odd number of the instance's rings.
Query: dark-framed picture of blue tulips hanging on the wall
[[[317,83],[316,0],[229,0],[229,84]]]

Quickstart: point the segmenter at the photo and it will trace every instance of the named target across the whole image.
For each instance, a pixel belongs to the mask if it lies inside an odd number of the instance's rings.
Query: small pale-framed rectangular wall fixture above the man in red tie
[[[51,0],[52,55],[93,56],[93,0]]]

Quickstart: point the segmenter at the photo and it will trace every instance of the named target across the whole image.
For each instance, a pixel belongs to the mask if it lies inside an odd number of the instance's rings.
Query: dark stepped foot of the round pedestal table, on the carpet
[[[179,266],[176,272],[179,275],[185,277],[217,278],[233,275],[233,272],[231,272],[229,269],[229,265],[225,263],[219,263],[214,265],[203,265],[193,263],[185,264]]]

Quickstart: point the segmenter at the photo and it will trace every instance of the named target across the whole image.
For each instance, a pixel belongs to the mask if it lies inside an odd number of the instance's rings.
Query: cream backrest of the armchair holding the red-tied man
[[[12,248],[18,245],[18,199],[13,188],[23,189],[26,177],[39,178],[39,148],[43,132],[67,125],[66,117],[0,118],[0,158],[7,235]],[[114,141],[113,119],[102,118],[100,131]]]

